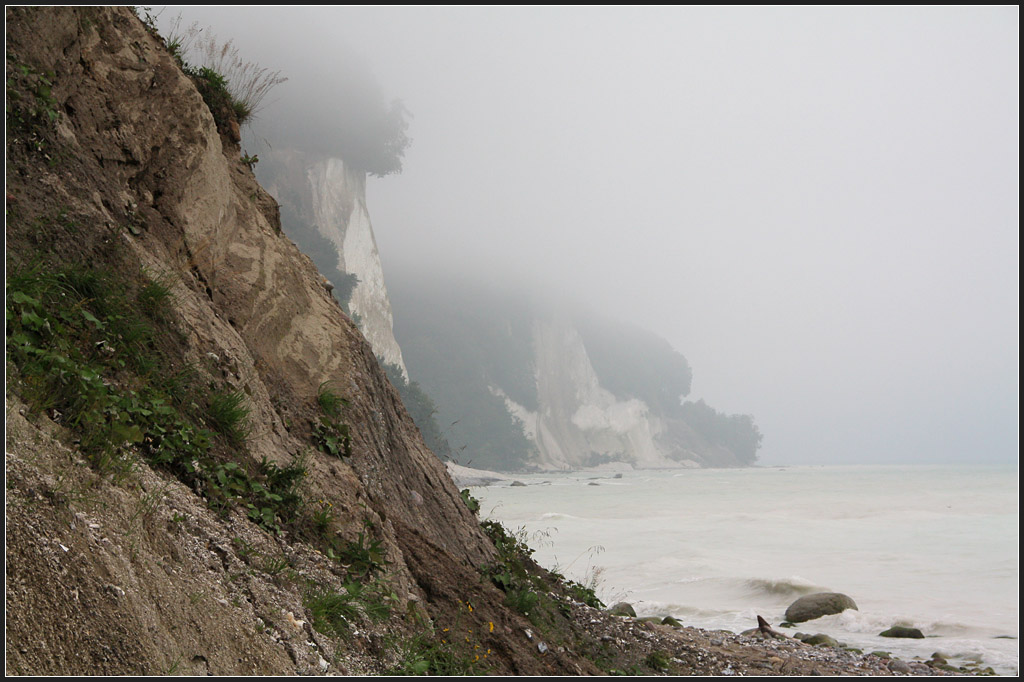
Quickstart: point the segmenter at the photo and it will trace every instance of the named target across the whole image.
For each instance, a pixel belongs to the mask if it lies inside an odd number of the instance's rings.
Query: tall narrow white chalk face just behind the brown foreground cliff
[[[272,175],[261,179],[282,204],[286,232],[315,229],[334,246],[338,269],[358,278],[348,309],[359,331],[374,352],[386,363],[397,365],[408,379],[401,348],[394,338],[391,302],[367,210],[366,172],[341,159],[315,159],[294,151],[278,151],[267,156]],[[288,224],[284,219],[286,205],[304,224]]]

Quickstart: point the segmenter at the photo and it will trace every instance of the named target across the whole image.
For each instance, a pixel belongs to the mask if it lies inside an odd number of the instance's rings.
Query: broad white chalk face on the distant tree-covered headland
[[[545,469],[580,469],[605,462],[637,468],[678,467],[659,447],[662,421],[637,398],[602,388],[580,333],[555,319],[534,323],[538,411],[493,390],[520,419]]]

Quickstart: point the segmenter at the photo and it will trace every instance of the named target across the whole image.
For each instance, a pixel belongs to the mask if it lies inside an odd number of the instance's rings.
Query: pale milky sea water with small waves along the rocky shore
[[[621,477],[617,477],[621,476]],[[638,615],[740,632],[814,592],[848,610],[787,631],[1018,673],[1016,466],[578,472],[472,488],[549,568]],[[894,625],[926,639],[890,639]],[[786,632],[786,631],[783,631]]]

